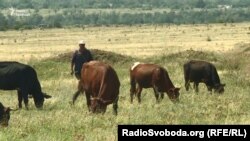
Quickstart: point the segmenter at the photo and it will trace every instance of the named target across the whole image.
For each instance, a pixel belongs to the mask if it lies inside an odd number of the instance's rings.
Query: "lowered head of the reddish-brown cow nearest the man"
[[[105,113],[107,109],[107,102],[100,98],[91,98],[91,111],[93,113]]]

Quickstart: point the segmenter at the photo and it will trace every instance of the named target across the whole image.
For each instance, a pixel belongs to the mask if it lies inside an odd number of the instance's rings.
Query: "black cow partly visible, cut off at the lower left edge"
[[[9,107],[4,107],[0,102],[0,126],[8,126],[10,120],[10,111]]]

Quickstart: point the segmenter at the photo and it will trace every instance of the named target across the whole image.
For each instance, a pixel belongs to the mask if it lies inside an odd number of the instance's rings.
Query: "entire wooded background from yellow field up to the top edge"
[[[218,6],[218,4],[235,4],[239,1],[244,1],[244,6],[237,3],[239,8],[234,6],[229,9],[208,8],[213,5]],[[65,6],[63,6],[64,4]],[[103,6],[105,4],[109,8]],[[0,0],[0,7],[11,6],[33,9],[28,16],[13,16],[0,12],[0,30],[84,27],[85,25],[200,24],[250,21],[250,8],[248,7],[250,0]],[[111,6],[116,7],[116,10],[112,11]],[[83,7],[110,9],[111,12],[88,13]],[[117,10],[125,7],[141,7],[142,11],[119,12]],[[170,10],[143,12],[143,10],[150,11],[156,7],[170,7]],[[49,8],[53,14],[42,14],[39,12],[39,8]]]

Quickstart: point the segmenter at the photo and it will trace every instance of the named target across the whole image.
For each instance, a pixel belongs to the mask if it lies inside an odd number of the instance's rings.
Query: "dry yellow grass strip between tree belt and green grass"
[[[140,25],[0,32],[0,61],[27,62],[78,48],[147,57],[187,49],[225,52],[250,42],[249,23],[209,25]]]

